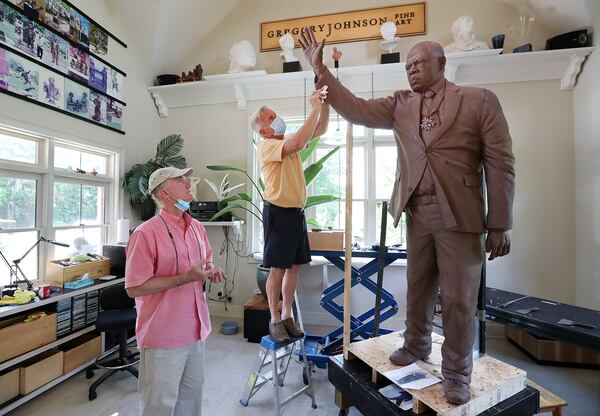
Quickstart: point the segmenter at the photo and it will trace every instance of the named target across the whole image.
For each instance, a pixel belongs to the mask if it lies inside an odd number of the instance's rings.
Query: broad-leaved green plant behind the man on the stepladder
[[[316,150],[317,145],[319,144],[319,140],[320,137],[317,137],[313,140],[311,140],[308,145],[306,146],[306,148],[304,148],[301,152],[300,152],[300,159],[302,160],[302,162],[306,162],[308,160],[308,158],[310,157],[310,155]],[[304,169],[304,180],[306,182],[306,185],[310,185],[310,183],[312,181],[315,180],[315,178],[319,175],[319,173],[321,173],[321,171],[323,170],[323,165],[325,164],[325,162],[327,161],[327,159],[329,159],[333,154],[335,154],[338,150],[340,149],[339,146],[336,146],[335,148],[333,148],[330,152],[328,152],[326,155],[324,155],[322,158],[320,158],[319,160],[317,160],[315,163],[307,166]],[[246,172],[244,169],[240,169],[240,168],[236,168],[236,167],[232,167],[232,166],[225,166],[225,165],[209,165],[206,166],[208,169],[213,170],[213,171],[232,171],[232,172],[239,172],[242,173],[243,175],[245,175],[248,180],[250,181],[250,183],[252,183],[252,185],[254,186],[254,188],[257,191],[257,194],[259,195],[259,198],[261,198],[261,200],[264,202],[264,199],[262,197],[262,193],[265,190],[265,185],[262,181],[262,179],[258,180],[258,184],[250,177],[250,175],[248,175],[248,172]],[[236,185],[237,186],[237,185]],[[319,205],[319,204],[324,204],[327,202],[331,202],[331,201],[336,201],[339,198],[335,195],[313,195],[313,196],[309,196],[306,199],[306,204],[304,205],[304,208],[309,208],[315,205]],[[231,204],[232,202],[235,202],[233,204]],[[245,211],[248,211],[250,214],[254,215],[261,223],[262,223],[262,218],[260,216],[261,213],[261,209],[259,207],[259,204],[257,204],[255,201],[252,200],[252,197],[250,195],[248,195],[247,193],[244,192],[239,192],[237,194],[228,196],[226,198],[223,198],[221,200],[222,204],[229,204],[226,207],[222,208],[219,212],[217,212],[210,220],[213,221],[219,217],[221,217],[222,215],[228,213],[228,212],[232,212],[236,209],[242,209]],[[317,225],[314,223],[314,220],[311,222],[311,220],[307,221],[310,223],[313,223],[313,225]],[[317,225],[318,226],[318,225]]]

